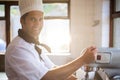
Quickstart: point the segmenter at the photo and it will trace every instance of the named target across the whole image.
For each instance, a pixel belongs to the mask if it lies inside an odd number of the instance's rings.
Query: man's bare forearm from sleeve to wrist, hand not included
[[[82,58],[77,58],[74,61],[51,69],[42,80],[66,80],[72,73],[79,69],[83,65]]]

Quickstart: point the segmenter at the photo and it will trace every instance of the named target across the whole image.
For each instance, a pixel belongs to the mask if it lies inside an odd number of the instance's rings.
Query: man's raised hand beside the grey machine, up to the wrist
[[[82,55],[82,59],[84,61],[85,64],[89,64],[95,61],[95,56],[97,53],[97,48],[94,46],[88,47],[87,49],[85,49]]]

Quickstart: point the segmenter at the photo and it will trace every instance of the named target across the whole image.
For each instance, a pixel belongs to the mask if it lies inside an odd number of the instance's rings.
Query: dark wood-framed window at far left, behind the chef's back
[[[0,1],[0,53],[2,54],[11,41],[10,6],[17,4],[17,1]]]

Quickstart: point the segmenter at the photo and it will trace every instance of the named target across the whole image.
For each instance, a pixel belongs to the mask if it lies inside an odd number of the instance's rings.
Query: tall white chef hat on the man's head
[[[43,12],[42,0],[19,0],[19,8],[21,16],[35,10]]]

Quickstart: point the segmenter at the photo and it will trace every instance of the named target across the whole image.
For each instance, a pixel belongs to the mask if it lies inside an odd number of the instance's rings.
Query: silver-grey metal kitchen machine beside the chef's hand
[[[116,48],[99,48],[96,56],[96,62],[84,65],[82,69],[85,71],[84,79],[82,80],[114,80],[109,77],[111,74],[120,74],[116,70],[114,73],[112,69],[120,70],[120,49]],[[94,72],[94,78],[89,78],[89,73]],[[120,80],[120,79],[119,79]]]

